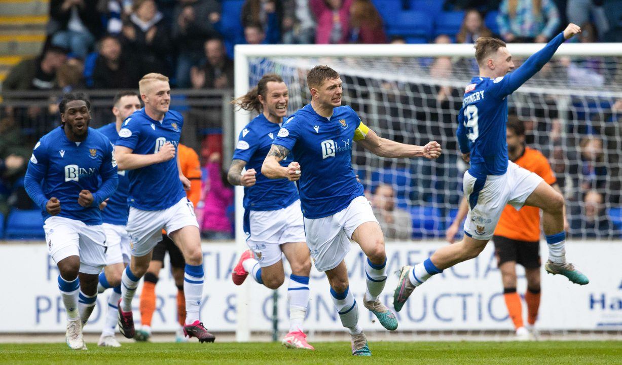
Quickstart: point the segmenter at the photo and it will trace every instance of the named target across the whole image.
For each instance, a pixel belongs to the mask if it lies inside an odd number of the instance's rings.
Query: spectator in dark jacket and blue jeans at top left
[[[103,32],[97,1],[51,0],[50,21],[55,29],[52,44],[84,58]]]

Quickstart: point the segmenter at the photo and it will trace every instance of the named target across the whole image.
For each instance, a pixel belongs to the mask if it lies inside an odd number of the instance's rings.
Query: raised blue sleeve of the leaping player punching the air
[[[543,49],[527,58],[525,63],[516,71],[508,73],[508,75],[495,78],[488,88],[488,93],[492,93],[499,99],[510,95],[516,89],[521,87],[531,76],[536,75],[538,71],[549,62],[555,51],[564,43],[564,33],[560,33],[552,39]]]

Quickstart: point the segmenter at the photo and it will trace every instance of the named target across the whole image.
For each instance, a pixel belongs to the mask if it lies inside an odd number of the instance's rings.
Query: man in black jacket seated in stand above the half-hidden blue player
[[[141,72],[131,58],[123,57],[121,42],[111,35],[100,41],[99,55],[93,68],[95,89],[136,88]]]

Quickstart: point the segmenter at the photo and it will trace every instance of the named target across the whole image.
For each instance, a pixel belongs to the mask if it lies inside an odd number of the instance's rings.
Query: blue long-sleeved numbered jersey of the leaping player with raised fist
[[[466,86],[458,114],[460,151],[470,152],[468,172],[475,178],[503,175],[508,170],[508,95],[549,62],[555,50],[564,43],[561,33],[508,75],[495,79],[476,76]]]

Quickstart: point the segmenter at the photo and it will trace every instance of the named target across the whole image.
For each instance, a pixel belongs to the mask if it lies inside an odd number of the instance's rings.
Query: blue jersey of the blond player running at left
[[[128,147],[134,154],[149,155],[170,142],[177,150],[182,126],[182,114],[176,111],[169,110],[162,121],[156,121],[142,108],[123,122],[116,146]],[[167,209],[186,196],[179,180],[177,155],[167,162],[129,170],[128,177],[128,204],[140,210]]]

